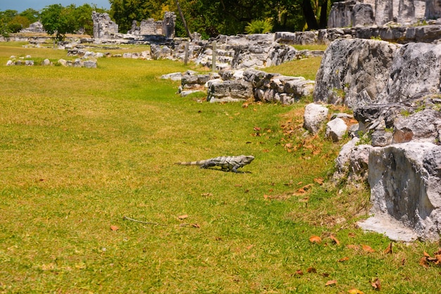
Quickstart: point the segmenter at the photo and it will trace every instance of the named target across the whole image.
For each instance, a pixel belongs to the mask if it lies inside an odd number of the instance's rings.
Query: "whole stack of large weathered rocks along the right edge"
[[[440,72],[441,45],[347,39],[325,51],[314,96],[353,108],[359,122],[336,177],[367,177],[374,217],[360,222],[365,229],[404,241],[440,238]]]

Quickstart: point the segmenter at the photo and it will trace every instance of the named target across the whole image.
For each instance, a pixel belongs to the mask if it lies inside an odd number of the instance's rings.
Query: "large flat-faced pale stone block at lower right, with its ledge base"
[[[373,219],[361,227],[411,241],[438,240],[441,233],[441,146],[433,143],[392,144],[369,155]],[[398,231],[385,231],[382,219],[396,219]],[[378,226],[373,224],[378,223]],[[409,229],[414,234],[407,235]],[[404,231],[405,235],[399,234]],[[396,236],[395,236],[396,237]]]

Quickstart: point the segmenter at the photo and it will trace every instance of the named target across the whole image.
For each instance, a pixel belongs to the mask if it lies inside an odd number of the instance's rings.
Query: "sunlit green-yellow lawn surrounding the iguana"
[[[169,60],[5,66],[28,54],[66,58],[0,44],[0,293],[439,292],[438,244],[357,228],[368,189],[328,183],[340,145],[304,135],[310,101],[198,103]],[[271,71],[315,75],[298,62]],[[240,174],[173,165],[240,154]]]

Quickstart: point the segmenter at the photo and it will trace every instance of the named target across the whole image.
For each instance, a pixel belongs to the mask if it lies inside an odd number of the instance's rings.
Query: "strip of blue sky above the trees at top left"
[[[0,11],[10,9],[20,13],[27,8],[34,8],[36,11],[41,11],[42,8],[52,4],[61,4],[62,6],[75,4],[76,6],[82,6],[82,4],[86,3],[91,5],[97,4],[98,8],[110,9],[108,0],[0,0]]]

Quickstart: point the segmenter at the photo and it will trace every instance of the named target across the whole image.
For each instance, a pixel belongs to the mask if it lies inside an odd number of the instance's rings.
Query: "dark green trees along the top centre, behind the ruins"
[[[190,32],[203,37],[245,32],[256,20],[269,20],[273,31],[317,30],[325,27],[330,5],[335,0],[180,0]],[[109,0],[111,17],[121,32],[132,27],[133,20],[163,18],[163,12],[178,11],[173,0]],[[187,33],[180,18],[176,35]]]

